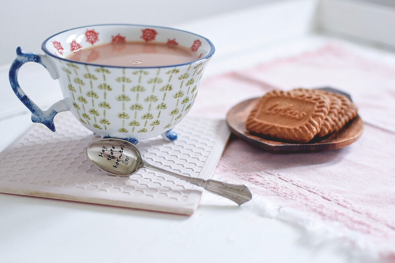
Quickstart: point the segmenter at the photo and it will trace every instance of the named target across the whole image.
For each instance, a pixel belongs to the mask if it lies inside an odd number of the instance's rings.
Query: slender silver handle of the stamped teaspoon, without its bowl
[[[252,195],[250,190],[245,185],[232,185],[229,183],[224,183],[221,181],[217,180],[204,180],[201,178],[196,178],[196,177],[189,177],[185,175],[181,175],[178,173],[174,173],[171,171],[164,170],[162,168],[159,168],[157,166],[154,166],[152,164],[149,164],[145,161],[143,161],[144,168],[149,168],[151,170],[161,172],[161,173],[166,173],[168,175],[172,175],[174,177],[177,177],[181,180],[187,181],[189,183],[192,183],[194,185],[200,186],[205,188],[207,191],[212,192],[213,194],[218,194],[219,196],[223,196],[225,198],[228,198],[229,200],[234,201],[238,205],[241,205],[247,201],[250,201],[252,199]]]

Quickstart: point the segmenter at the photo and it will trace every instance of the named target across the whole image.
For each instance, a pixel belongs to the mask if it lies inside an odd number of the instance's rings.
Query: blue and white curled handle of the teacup
[[[12,90],[17,95],[18,99],[32,112],[32,121],[37,123],[42,123],[47,126],[51,131],[55,131],[55,125],[53,123],[53,118],[59,112],[64,112],[70,110],[70,106],[67,106],[66,101],[60,100],[53,104],[48,110],[41,110],[30,98],[24,93],[18,82],[18,71],[24,63],[36,62],[43,65],[51,75],[51,78],[58,79],[59,72],[56,68],[55,63],[48,58],[47,55],[34,54],[23,52],[21,47],[17,48],[17,58],[15,58],[11,67],[9,68],[9,83],[11,84]]]

